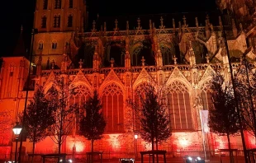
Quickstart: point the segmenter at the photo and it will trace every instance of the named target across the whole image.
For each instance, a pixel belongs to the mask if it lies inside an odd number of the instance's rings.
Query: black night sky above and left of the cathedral
[[[99,16],[146,15],[174,12],[209,12],[216,9],[215,0],[146,1],[87,0],[90,21]],[[30,47],[31,28],[36,0],[7,0],[2,3],[0,56],[12,56],[21,25],[26,47]],[[3,6],[5,5],[5,6]]]

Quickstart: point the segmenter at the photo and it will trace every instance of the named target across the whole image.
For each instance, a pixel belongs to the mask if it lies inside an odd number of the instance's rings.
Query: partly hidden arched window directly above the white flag
[[[211,100],[210,84],[207,82],[201,89],[201,105],[202,109],[210,109],[213,105]]]

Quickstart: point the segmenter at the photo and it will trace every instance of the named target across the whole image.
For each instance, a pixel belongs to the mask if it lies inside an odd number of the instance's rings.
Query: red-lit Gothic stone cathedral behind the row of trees
[[[88,25],[83,0],[40,0],[36,2],[31,61],[25,57],[2,58],[0,78],[0,151],[12,153],[12,126],[32,99],[36,86],[50,89],[59,77],[78,87],[73,97],[80,106],[97,90],[102,100],[107,128],[95,151],[110,157],[135,155],[150,149],[126,101],[146,85],[164,91],[172,136],[159,146],[169,156],[200,152],[214,154],[227,148],[223,136],[203,132],[201,110],[211,107],[209,82],[221,72],[230,80],[246,55],[255,62],[256,12],[253,1],[216,1],[220,12],[166,14],[156,16],[97,17]],[[221,14],[220,14],[221,13]],[[110,29],[110,30],[108,30]],[[225,34],[224,34],[225,33]],[[227,41],[228,46],[225,46]],[[227,51],[229,50],[229,51]],[[17,53],[21,50],[17,50]],[[255,64],[255,63],[254,63]],[[31,70],[31,71],[30,71]],[[26,91],[28,90],[28,91]],[[90,142],[78,135],[78,119],[62,151],[85,153]],[[248,147],[254,138],[246,135]],[[205,142],[205,143],[204,143]],[[241,138],[232,137],[232,147],[242,150]],[[31,142],[22,143],[26,153]],[[56,152],[58,146],[46,137],[36,152]]]

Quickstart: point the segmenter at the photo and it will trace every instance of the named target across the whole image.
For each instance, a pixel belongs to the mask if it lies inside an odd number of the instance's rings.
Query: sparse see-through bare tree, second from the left
[[[73,130],[74,114],[78,112],[78,105],[69,102],[70,96],[76,94],[76,88],[70,88],[67,79],[61,77],[56,85],[53,85],[48,91],[52,107],[56,109],[55,123],[51,126],[49,132],[51,139],[58,144],[58,152],[61,152],[61,145],[66,137]]]

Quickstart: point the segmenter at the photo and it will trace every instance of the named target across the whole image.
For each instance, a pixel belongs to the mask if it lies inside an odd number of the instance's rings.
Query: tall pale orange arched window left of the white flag
[[[168,86],[168,111],[173,130],[192,129],[192,112],[187,87],[180,81]]]

